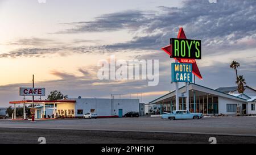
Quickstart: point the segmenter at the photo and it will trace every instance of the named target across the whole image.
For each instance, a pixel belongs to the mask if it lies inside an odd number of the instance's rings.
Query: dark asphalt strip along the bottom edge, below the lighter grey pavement
[[[256,143],[255,137],[196,135],[189,133],[84,131],[69,129],[0,128],[0,144],[39,144],[39,137],[47,144],[209,144],[210,137],[216,143]]]

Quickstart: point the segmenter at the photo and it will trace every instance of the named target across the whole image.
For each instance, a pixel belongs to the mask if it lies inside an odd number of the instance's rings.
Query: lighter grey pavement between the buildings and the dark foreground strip
[[[256,136],[256,118],[223,117],[203,118],[199,120],[163,120],[161,118],[102,118],[102,119],[56,119],[36,120],[0,120],[0,128],[48,128],[80,129],[100,131],[143,131],[199,133],[217,135]]]

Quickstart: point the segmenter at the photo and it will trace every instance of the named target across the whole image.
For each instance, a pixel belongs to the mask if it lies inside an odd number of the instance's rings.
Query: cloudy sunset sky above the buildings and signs
[[[42,1],[42,0],[41,0]],[[46,87],[69,97],[110,98],[140,94],[148,103],[175,89],[171,62],[160,48],[183,27],[188,39],[202,40],[197,60],[213,89],[236,86],[238,74],[256,88],[256,1],[218,0],[0,0],[0,106],[21,100],[19,87]],[[100,80],[98,61],[159,60],[159,84],[146,80]],[[30,99],[30,97],[27,97]]]

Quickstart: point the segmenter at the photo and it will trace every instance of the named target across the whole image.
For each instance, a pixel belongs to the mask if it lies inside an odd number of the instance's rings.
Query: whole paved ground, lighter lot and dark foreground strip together
[[[256,143],[256,118],[0,120],[0,143]]]

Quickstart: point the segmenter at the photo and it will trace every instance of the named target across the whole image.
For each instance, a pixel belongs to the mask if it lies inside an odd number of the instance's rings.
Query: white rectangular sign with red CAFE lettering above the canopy
[[[33,88],[33,87],[20,87],[19,88],[20,96],[45,96],[45,88]]]

